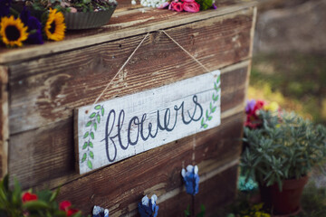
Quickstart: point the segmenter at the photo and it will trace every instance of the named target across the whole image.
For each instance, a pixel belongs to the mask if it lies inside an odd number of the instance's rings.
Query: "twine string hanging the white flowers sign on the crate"
[[[187,52],[187,50],[182,47],[176,40],[174,40],[168,33],[166,33],[164,30],[159,30],[162,33],[165,33],[168,38],[177,44],[177,46],[184,52],[186,52],[194,61],[196,61],[201,67],[203,67],[203,69],[205,69],[206,72],[210,72],[205,65],[203,65],[200,61],[198,61],[193,55],[190,54],[190,52]],[[108,88],[110,87],[111,83],[113,82],[113,80],[120,74],[120,72],[123,70],[123,68],[127,65],[127,63],[130,61],[130,59],[133,57],[133,55],[137,52],[137,50],[139,49],[139,47],[141,46],[141,44],[143,42],[145,42],[145,40],[148,38],[149,33],[147,33],[145,35],[145,37],[141,40],[141,42],[139,42],[139,45],[136,47],[136,49],[129,55],[129,58],[127,59],[127,61],[125,61],[123,63],[123,65],[120,67],[120,70],[114,75],[114,77],[110,80],[110,82],[107,84],[107,86],[105,87],[105,89],[103,91],[101,91],[101,94],[99,95],[99,97],[94,101],[94,103],[92,105],[95,105],[103,96],[103,94],[105,93],[106,90],[108,90]]]

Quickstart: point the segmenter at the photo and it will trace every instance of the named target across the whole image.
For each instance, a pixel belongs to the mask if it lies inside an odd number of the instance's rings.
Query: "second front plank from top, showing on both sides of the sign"
[[[225,68],[221,75],[221,117],[243,109],[248,61]],[[231,110],[231,113],[227,113]],[[225,116],[227,113],[227,116]],[[222,120],[223,125],[223,120]],[[24,188],[57,186],[79,177],[74,170],[73,118],[11,136],[9,172]]]

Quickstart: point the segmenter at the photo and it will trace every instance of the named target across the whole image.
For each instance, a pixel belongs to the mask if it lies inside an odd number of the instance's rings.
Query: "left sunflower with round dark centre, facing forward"
[[[27,29],[21,19],[14,19],[14,15],[5,16],[2,17],[0,23],[0,37],[8,46],[14,47],[14,45],[17,45],[21,47],[28,37]]]

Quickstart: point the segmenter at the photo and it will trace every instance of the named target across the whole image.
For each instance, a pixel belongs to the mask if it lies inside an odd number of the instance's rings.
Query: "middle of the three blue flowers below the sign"
[[[158,200],[157,195],[152,195],[150,200],[147,195],[141,199],[139,203],[139,214],[141,217],[157,217],[158,216],[158,205],[156,204]]]

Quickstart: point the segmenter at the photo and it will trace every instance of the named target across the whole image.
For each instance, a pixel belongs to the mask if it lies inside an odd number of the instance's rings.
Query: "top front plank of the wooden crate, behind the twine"
[[[167,33],[214,71],[249,57],[251,25],[249,13],[187,24]],[[93,103],[143,37],[11,65],[11,133],[70,118],[72,109]],[[151,33],[101,99],[157,88],[204,72],[164,33]]]

